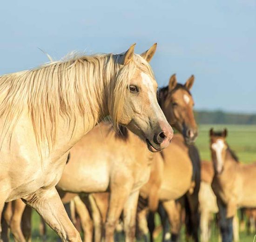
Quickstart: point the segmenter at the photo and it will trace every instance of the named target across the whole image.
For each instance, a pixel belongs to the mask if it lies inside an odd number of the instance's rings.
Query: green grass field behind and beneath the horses
[[[250,163],[256,161],[256,126],[239,126],[239,125],[201,125],[199,126],[199,136],[196,141],[196,145],[200,150],[200,155],[202,160],[210,161],[209,152],[209,129],[215,128],[215,130],[221,130],[222,128],[228,128],[228,143],[230,148],[232,148],[239,159],[245,163]],[[158,218],[156,217],[156,220]],[[40,242],[39,236],[39,215],[36,212],[33,213],[32,223],[33,231],[32,236],[33,242]],[[214,232],[210,242],[217,242],[218,236],[217,232]],[[57,241],[58,236],[53,230],[47,228],[47,242]],[[159,237],[157,241],[161,241]],[[184,233],[182,233],[181,242],[185,241]],[[241,242],[253,242],[254,235],[247,235],[246,233],[240,234]]]

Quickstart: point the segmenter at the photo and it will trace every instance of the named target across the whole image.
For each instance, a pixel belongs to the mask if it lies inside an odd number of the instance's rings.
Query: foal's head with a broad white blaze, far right
[[[213,166],[216,173],[221,174],[223,171],[227,150],[229,148],[226,142],[228,131],[225,128],[221,132],[215,132],[213,128],[211,128],[209,134],[210,134],[210,150],[211,150]]]

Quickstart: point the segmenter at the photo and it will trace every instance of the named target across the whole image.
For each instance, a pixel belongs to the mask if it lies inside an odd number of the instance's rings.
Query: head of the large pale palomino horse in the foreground
[[[122,104],[119,124],[146,141],[148,149],[152,152],[166,148],[173,137],[173,129],[157,102],[157,83],[148,64],[155,54],[155,49],[156,44],[138,55],[134,54],[134,46],[130,47],[123,54],[123,67],[117,77],[120,80],[128,78],[128,88],[123,94],[126,99]]]

